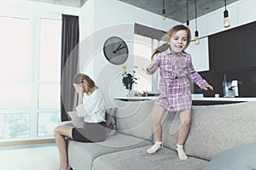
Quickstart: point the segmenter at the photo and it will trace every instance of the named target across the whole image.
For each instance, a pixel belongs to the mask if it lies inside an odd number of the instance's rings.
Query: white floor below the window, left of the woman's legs
[[[0,169],[58,170],[59,162],[55,144],[0,148]]]

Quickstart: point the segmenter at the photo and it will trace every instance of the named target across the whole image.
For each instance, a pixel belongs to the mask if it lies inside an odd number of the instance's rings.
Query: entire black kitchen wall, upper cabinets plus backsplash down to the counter
[[[223,96],[222,82],[239,81],[239,96],[256,95],[256,22],[209,36],[210,71],[214,92]]]

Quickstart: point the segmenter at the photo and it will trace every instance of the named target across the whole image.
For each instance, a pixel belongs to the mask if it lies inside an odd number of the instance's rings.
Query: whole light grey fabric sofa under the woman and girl
[[[223,167],[218,156],[222,156],[222,163],[226,164],[228,161],[222,154],[244,144],[253,145],[253,149],[247,146],[247,150],[255,150],[251,154],[256,157],[256,102],[193,106],[190,132],[184,144],[189,156],[186,161],[180,161],[175,150],[178,114],[165,114],[162,121],[164,147],[149,155],[146,150],[153,144],[150,112],[154,100],[113,100],[113,107],[117,107],[116,135],[100,143],[68,141],[68,158],[74,170],[234,170],[234,167]],[[239,157],[226,155],[233,162]],[[252,161],[243,160],[243,163],[256,168]]]

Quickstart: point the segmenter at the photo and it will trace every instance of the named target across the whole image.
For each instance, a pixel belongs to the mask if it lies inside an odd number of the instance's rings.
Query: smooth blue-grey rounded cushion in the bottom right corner
[[[256,169],[256,143],[243,144],[226,150],[212,158],[206,170],[251,170]]]

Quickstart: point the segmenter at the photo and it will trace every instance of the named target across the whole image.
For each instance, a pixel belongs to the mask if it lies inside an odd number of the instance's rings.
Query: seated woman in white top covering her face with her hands
[[[106,101],[102,90],[84,74],[74,77],[73,88],[79,94],[76,110],[79,117],[84,117],[84,128],[65,125],[55,127],[55,143],[61,157],[60,170],[72,169],[68,163],[65,137],[79,142],[101,142],[106,139]]]

